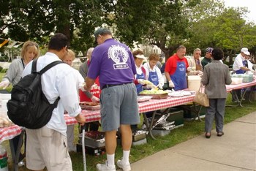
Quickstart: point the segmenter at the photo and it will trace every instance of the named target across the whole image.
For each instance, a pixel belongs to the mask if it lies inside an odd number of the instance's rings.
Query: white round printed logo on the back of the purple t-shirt
[[[113,64],[114,69],[127,69],[129,68],[127,61],[129,54],[127,50],[120,45],[112,45],[108,49],[108,58],[111,58],[116,64]]]

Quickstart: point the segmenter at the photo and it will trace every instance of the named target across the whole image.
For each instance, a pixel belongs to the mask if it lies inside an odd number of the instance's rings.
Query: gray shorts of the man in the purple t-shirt
[[[103,131],[118,129],[120,124],[140,123],[137,91],[134,83],[102,89],[100,103]]]

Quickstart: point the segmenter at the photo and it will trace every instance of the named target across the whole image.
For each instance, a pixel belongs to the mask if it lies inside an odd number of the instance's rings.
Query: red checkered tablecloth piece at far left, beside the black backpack
[[[9,127],[4,127],[0,129],[0,144],[4,140],[11,140],[16,137],[22,131],[21,127],[18,125],[13,125]]]

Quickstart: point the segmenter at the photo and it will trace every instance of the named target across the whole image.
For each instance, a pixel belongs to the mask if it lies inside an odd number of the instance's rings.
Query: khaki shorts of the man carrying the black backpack
[[[30,170],[72,170],[67,137],[48,129],[26,129],[26,166]]]

